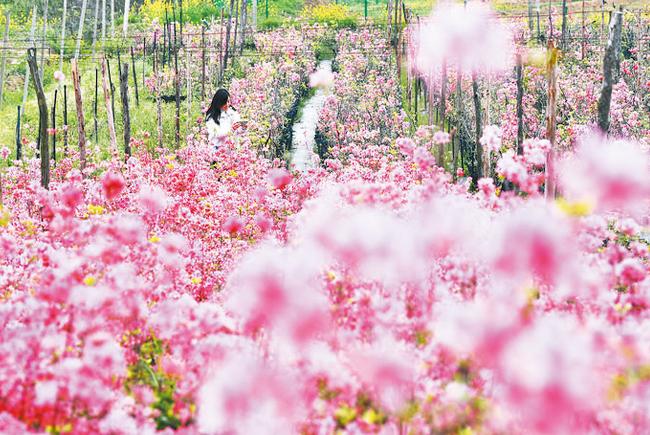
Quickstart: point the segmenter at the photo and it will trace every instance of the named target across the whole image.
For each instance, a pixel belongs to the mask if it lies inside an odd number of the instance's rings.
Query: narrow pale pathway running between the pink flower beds
[[[324,71],[332,71],[332,61],[321,61],[318,65],[317,73],[322,74]],[[299,171],[306,171],[314,167],[312,157],[316,143],[316,127],[318,126],[318,117],[326,98],[325,91],[318,88],[316,94],[305,104],[300,120],[293,125],[291,164]]]

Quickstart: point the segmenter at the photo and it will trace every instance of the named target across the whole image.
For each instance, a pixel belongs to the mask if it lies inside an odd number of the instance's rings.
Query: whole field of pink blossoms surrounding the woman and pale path
[[[603,128],[615,36],[476,3],[241,46],[187,24],[175,67],[133,61],[124,150],[102,125],[82,151],[72,109],[47,184],[38,129],[0,144],[0,433],[650,433],[648,37],[614,52]],[[168,37],[143,26],[143,53]],[[206,76],[248,122],[216,149]]]

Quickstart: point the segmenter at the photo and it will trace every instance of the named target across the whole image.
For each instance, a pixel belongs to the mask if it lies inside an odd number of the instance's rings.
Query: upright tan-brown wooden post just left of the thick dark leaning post
[[[546,139],[551,143],[551,150],[546,155],[545,197],[549,201],[555,200],[555,132],[557,108],[557,61],[558,50],[555,42],[550,40],[547,50],[546,74],[548,85],[548,99],[546,103]]]

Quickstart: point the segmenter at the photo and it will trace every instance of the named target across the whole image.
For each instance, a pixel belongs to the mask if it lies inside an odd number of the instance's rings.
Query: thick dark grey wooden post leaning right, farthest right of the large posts
[[[603,86],[598,99],[598,127],[609,132],[609,108],[612,102],[612,88],[618,81],[619,52],[621,50],[621,29],[623,13],[615,11],[609,24],[609,40],[603,59]]]

